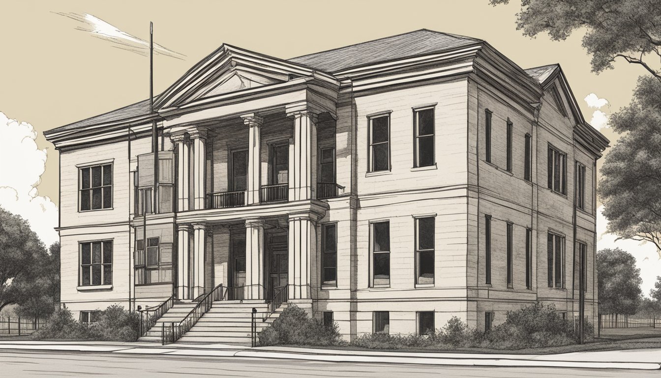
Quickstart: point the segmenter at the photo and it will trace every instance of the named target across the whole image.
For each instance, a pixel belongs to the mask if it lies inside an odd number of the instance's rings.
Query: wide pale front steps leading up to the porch
[[[145,336],[139,338],[141,342],[161,342],[161,329],[163,324],[169,326],[171,322],[180,322],[195,307],[198,302],[175,303]],[[266,321],[262,316],[266,314],[267,304],[263,301],[215,301],[202,318],[190,328],[177,342],[184,343],[223,343],[223,344],[251,344],[251,313],[256,308],[256,326],[259,333],[269,326],[287,307],[287,303],[276,309]]]

